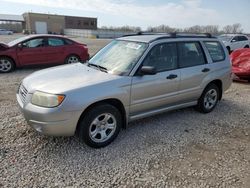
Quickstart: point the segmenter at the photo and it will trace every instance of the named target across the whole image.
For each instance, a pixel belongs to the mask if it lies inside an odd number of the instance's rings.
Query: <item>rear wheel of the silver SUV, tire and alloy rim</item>
[[[211,112],[219,100],[219,88],[215,84],[209,84],[198,100],[197,110],[202,113]]]

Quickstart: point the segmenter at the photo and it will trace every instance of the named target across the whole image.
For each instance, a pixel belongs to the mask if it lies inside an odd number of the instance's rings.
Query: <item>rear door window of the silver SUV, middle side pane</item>
[[[179,67],[192,67],[206,63],[204,53],[199,42],[178,43]]]

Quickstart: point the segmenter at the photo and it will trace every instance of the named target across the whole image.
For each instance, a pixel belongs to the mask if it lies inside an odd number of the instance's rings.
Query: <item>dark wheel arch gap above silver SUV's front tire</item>
[[[104,99],[104,100],[101,100],[101,101],[97,101],[97,102],[89,105],[82,112],[82,114],[81,114],[81,116],[80,116],[80,118],[79,118],[79,120],[77,122],[76,133],[79,132],[80,122],[84,118],[84,116],[86,115],[86,113],[89,112],[95,106],[101,105],[101,104],[110,104],[110,105],[116,107],[120,111],[121,116],[122,116],[122,120],[123,120],[122,128],[126,128],[127,127],[127,118],[126,118],[127,116],[126,116],[126,110],[124,108],[123,103],[119,99],[110,98],[110,99]]]

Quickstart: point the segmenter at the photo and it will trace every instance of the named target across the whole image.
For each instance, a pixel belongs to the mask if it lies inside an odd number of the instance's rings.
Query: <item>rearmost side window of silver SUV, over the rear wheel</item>
[[[223,61],[225,59],[224,50],[219,42],[204,42],[213,62]]]

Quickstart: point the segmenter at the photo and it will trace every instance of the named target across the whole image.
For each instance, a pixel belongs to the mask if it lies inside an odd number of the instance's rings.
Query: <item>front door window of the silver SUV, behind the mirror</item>
[[[143,62],[144,66],[153,66],[157,72],[177,68],[177,50],[175,43],[159,44],[147,55]]]

